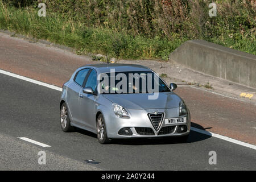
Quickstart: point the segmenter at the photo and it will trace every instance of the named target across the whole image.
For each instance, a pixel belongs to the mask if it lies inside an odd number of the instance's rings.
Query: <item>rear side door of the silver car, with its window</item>
[[[89,68],[82,69],[76,73],[74,80],[68,85],[67,104],[71,113],[72,122],[79,124],[79,92],[82,90],[85,78],[90,71]]]

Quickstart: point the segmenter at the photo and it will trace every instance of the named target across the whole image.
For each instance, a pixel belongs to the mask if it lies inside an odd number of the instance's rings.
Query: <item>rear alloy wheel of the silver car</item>
[[[65,102],[60,107],[60,126],[64,132],[73,131],[74,127],[70,124],[70,118],[68,115],[68,107]]]

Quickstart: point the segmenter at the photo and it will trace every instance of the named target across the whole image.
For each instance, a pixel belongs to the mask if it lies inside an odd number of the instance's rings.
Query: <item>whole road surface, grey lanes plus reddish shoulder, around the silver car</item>
[[[3,36],[0,39],[0,69],[49,84],[61,86],[79,64],[91,63],[24,40]],[[255,105],[189,86],[178,88],[176,93],[191,109],[194,127],[256,143]],[[58,90],[0,73],[0,169],[256,169],[253,148],[195,131],[191,131],[187,143],[175,139],[135,139],[114,140],[106,145],[98,143],[96,135],[87,131],[63,133],[59,98]],[[46,165],[38,164],[39,151],[46,152]],[[217,164],[209,164],[210,151],[216,152]],[[93,164],[86,162],[90,159]]]

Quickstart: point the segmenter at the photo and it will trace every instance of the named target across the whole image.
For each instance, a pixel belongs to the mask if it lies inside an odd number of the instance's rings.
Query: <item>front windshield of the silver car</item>
[[[102,94],[171,92],[154,72],[101,73],[98,79]]]

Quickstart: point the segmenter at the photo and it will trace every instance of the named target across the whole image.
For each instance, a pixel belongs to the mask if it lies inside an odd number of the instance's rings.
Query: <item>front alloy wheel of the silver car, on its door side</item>
[[[109,143],[110,139],[106,133],[106,125],[102,114],[98,115],[96,126],[98,142],[101,144]]]

